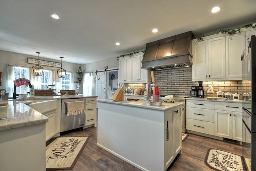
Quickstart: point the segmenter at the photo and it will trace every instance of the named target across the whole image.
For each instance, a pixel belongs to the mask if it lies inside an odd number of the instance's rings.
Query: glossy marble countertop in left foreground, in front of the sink
[[[7,119],[0,120],[0,131],[48,122],[48,117],[22,101],[8,101]]]

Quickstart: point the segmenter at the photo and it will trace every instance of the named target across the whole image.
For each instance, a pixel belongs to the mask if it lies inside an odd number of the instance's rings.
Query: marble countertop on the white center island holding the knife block
[[[111,103],[116,105],[126,105],[126,106],[133,106],[133,107],[142,107],[147,109],[155,109],[155,110],[168,110],[172,109],[173,107],[178,107],[179,105],[184,105],[184,102],[174,102],[174,103],[168,103],[168,102],[162,102],[162,106],[152,106],[149,103],[146,103],[146,100],[140,99],[138,101],[134,100],[125,100],[125,101],[114,101],[112,99],[98,99],[98,102],[102,103]]]

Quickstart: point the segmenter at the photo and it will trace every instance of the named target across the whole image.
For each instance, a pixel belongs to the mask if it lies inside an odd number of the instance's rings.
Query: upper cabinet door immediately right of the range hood
[[[208,76],[208,40],[193,43],[192,81],[206,80]]]

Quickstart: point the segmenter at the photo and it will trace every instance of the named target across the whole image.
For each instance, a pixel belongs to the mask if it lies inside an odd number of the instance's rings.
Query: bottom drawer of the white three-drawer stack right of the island
[[[186,118],[186,129],[214,135],[214,123]]]

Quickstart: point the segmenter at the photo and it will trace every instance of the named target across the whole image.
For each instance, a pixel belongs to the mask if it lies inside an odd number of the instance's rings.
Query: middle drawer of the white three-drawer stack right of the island
[[[214,110],[186,107],[186,118],[214,122]]]

